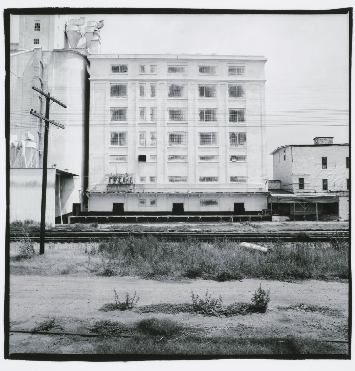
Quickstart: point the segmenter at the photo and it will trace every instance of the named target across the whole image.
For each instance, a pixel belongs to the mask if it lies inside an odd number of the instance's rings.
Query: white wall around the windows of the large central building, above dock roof
[[[91,55],[90,85],[90,143],[89,143],[89,184],[94,185],[108,173],[133,173],[136,183],[140,177],[157,177],[157,184],[146,184],[144,189],[155,191],[212,191],[212,192],[260,192],[265,188],[266,135],[265,116],[260,114],[265,109],[264,64],[265,59],[255,57],[205,57],[205,56],[120,56],[113,58],[105,55]],[[253,59],[253,58],[251,58]],[[127,73],[111,73],[112,64],[126,64]],[[139,72],[139,65],[146,65],[146,73]],[[157,65],[156,73],[150,73],[150,65]],[[228,75],[228,65],[245,67],[245,76]],[[185,65],[184,74],[168,74],[168,65]],[[216,66],[216,75],[200,75],[199,65]],[[110,97],[110,83],[126,83],[127,97]],[[140,83],[146,84],[146,97],[139,95]],[[156,83],[156,97],[149,96],[150,83]],[[182,98],[169,98],[170,83],[184,84]],[[215,85],[213,98],[198,95],[198,85]],[[228,84],[244,85],[245,97],[229,98]],[[127,108],[127,121],[110,122],[111,108]],[[139,108],[146,109],[146,120],[139,116]],[[157,121],[151,122],[150,108],[156,108]],[[168,108],[184,108],[187,111],[184,121],[170,122]],[[200,122],[199,108],[215,108],[217,121]],[[247,110],[246,121],[229,122],[229,109]],[[251,112],[259,112],[252,114]],[[249,127],[248,123],[253,124]],[[260,126],[254,127],[255,124]],[[111,146],[110,131],[127,131],[127,145]],[[147,145],[139,145],[139,132],[146,132]],[[157,145],[150,146],[150,131],[157,132]],[[168,133],[186,132],[187,144],[181,147],[168,145]],[[214,147],[199,144],[199,132],[217,132],[218,144]],[[229,132],[246,132],[245,147],[230,147]],[[113,163],[110,154],[127,155],[127,162]],[[138,162],[138,154],[157,155],[157,162]],[[188,162],[168,162],[168,155],[187,155]],[[219,156],[218,162],[201,162],[199,155]],[[246,162],[231,162],[231,155],[247,155]],[[168,182],[169,176],[187,176],[186,183]],[[199,177],[219,177],[217,183],[201,184]],[[231,176],[247,176],[246,184],[230,182]],[[155,189],[154,189],[155,188]],[[94,203],[91,203],[92,207]],[[89,209],[90,210],[90,209]]]

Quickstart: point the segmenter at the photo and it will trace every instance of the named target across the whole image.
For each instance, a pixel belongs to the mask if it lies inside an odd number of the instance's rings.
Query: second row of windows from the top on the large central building
[[[145,98],[147,96],[145,83],[139,84],[139,96]],[[149,84],[150,98],[156,97],[156,86],[157,84]],[[110,96],[127,98],[127,84],[111,84],[110,85]],[[184,98],[186,96],[186,84],[171,84],[168,85],[168,97],[169,98]],[[204,98],[216,98],[216,85],[198,85],[199,96]],[[229,98],[244,98],[245,97],[245,85],[228,85]]]

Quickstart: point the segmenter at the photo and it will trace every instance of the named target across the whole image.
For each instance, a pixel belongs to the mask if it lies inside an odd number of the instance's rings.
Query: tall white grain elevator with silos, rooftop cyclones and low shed
[[[51,105],[50,117],[65,129],[49,130],[46,221],[55,223],[85,210],[88,186],[89,55],[100,50],[97,22],[60,15],[21,15],[19,42],[10,53],[10,221],[40,220],[46,99],[51,93],[67,109]],[[93,35],[95,33],[95,35]],[[55,219],[57,218],[57,219]]]

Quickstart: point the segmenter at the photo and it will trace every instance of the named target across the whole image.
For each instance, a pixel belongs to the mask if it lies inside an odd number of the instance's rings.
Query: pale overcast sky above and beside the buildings
[[[349,142],[348,15],[97,14],[86,18],[105,20],[100,30],[102,53],[265,56],[268,154],[286,144],[313,144],[317,136]],[[18,24],[16,19],[12,22],[15,41]],[[270,179],[272,166],[268,156]]]

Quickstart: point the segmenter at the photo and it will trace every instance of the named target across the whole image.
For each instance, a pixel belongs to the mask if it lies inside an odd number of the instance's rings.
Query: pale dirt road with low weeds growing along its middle
[[[58,325],[66,331],[87,332],[87,326],[98,319],[110,319],[131,323],[142,318],[169,317],[189,326],[202,326],[210,334],[229,336],[251,335],[310,335],[319,338],[345,338],[342,330],[347,326],[348,283],[304,280],[280,282],[264,280],[262,288],[270,289],[270,304],[265,314],[219,318],[205,317],[190,313],[177,315],[163,313],[137,313],[132,311],[99,312],[98,309],[114,301],[115,288],[120,299],[126,291],[133,295],[137,291],[139,305],[167,302],[190,301],[190,292],[204,296],[206,290],[212,297],[222,295],[223,303],[235,301],[250,302],[260,280],[215,282],[209,280],[186,280],[159,282],[132,277],[77,278],[11,276],[10,278],[10,327],[32,329],[39,322],[56,318]],[[338,309],[338,318],[321,313],[296,310],[280,311],[278,306],[295,303],[315,304]],[[90,339],[76,339],[56,335],[13,334],[10,336],[12,352],[90,352]]]

